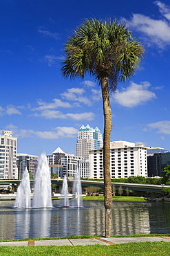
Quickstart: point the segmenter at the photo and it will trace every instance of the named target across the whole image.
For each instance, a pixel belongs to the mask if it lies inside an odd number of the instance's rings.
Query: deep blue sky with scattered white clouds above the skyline
[[[0,133],[13,131],[18,153],[75,154],[81,125],[103,133],[100,86],[93,77],[65,80],[63,48],[86,18],[126,22],[145,46],[134,77],[111,95],[111,141],[170,151],[169,0],[0,0]]]

